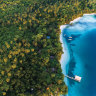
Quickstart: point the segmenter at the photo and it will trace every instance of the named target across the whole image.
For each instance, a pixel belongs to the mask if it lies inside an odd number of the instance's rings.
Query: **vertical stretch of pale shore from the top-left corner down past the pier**
[[[60,26],[60,30],[61,30],[60,42],[62,43],[62,50],[63,50],[63,54],[62,54],[61,59],[60,59],[60,64],[61,64],[62,73],[64,75],[67,74],[66,65],[67,65],[67,63],[68,63],[68,61],[70,59],[70,54],[69,54],[67,43],[66,43],[66,41],[63,40],[63,29],[66,28],[66,26],[67,25]],[[67,78],[64,78],[64,82],[68,86]],[[60,96],[63,96],[63,95],[60,95]],[[68,96],[68,94],[67,95],[64,95],[64,96]]]

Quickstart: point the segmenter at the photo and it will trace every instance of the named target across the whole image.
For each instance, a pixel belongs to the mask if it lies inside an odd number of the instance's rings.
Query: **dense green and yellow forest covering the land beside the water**
[[[95,11],[94,0],[1,0],[0,96],[67,94],[59,26]]]

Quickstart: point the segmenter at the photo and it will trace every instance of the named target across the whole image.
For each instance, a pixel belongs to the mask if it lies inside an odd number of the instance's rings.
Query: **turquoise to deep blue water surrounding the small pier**
[[[62,40],[70,55],[67,65],[62,66],[63,73],[82,77],[80,83],[65,79],[68,96],[96,96],[96,15],[84,15],[67,25],[62,30]]]

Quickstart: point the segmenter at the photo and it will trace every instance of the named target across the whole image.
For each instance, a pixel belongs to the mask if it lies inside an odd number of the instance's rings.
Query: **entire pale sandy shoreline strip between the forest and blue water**
[[[94,15],[96,13],[88,13],[88,14],[83,14],[81,17],[77,17],[76,19],[74,19],[73,21],[70,21],[69,24],[72,24],[72,23],[76,23],[78,22],[83,16],[85,15]],[[61,25],[60,26],[60,31],[61,31],[61,34],[60,34],[60,42],[62,43],[62,48],[63,48],[63,54],[61,56],[61,59],[60,59],[60,63],[61,63],[61,69],[62,69],[62,72],[64,75],[67,75],[67,70],[66,70],[66,66],[68,66],[68,61],[70,59],[70,53],[69,53],[69,50],[68,50],[68,47],[67,47],[67,44],[66,44],[66,41],[64,42],[63,40],[63,30],[64,28],[67,27],[67,24],[65,25]],[[68,81],[67,81],[67,78],[64,78],[64,81],[66,83],[66,85],[68,86]],[[68,94],[66,95],[68,96]]]

